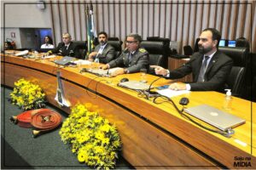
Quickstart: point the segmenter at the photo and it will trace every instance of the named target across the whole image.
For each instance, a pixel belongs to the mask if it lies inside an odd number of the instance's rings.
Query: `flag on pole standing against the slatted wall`
[[[94,17],[93,17],[93,7],[90,4],[90,8],[87,5],[87,9],[85,10],[87,16],[87,54],[86,57],[92,52],[94,48],[93,42],[97,37],[95,24],[94,24]]]

